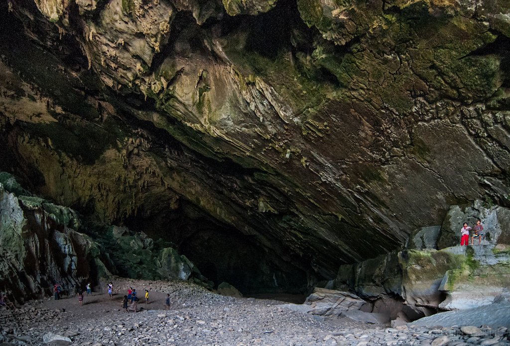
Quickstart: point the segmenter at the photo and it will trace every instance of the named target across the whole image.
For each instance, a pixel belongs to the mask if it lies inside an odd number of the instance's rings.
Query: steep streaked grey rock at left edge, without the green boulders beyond
[[[0,182],[0,291],[23,302],[52,294],[55,283],[74,292],[75,283],[110,275],[97,243],[76,232],[77,224],[69,208],[16,196]]]

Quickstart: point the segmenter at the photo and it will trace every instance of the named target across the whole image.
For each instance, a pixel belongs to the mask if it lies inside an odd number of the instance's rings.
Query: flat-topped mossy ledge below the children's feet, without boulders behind
[[[372,302],[362,310],[409,322],[440,310],[492,303],[508,290],[509,250],[508,245],[475,245],[393,252],[342,266],[334,286]]]

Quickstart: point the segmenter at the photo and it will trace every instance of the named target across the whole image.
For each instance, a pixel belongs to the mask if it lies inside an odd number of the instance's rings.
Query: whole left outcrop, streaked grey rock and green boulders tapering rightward
[[[125,227],[82,225],[77,212],[31,195],[6,172],[0,184],[0,291],[20,301],[52,294],[54,283],[73,293],[76,283],[100,284],[112,274],[214,285],[168,244]]]

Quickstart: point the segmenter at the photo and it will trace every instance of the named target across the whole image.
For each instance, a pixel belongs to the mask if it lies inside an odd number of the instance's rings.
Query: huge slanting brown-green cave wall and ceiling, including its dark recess
[[[509,205],[503,0],[0,11],[0,168],[215,283],[302,291],[450,205]]]

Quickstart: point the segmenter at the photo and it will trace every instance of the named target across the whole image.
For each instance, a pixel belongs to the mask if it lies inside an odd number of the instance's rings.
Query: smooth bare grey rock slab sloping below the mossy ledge
[[[446,311],[427,316],[407,326],[466,326],[488,325],[510,328],[510,304],[490,304],[466,310]]]

